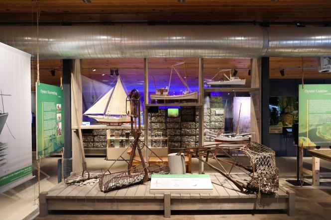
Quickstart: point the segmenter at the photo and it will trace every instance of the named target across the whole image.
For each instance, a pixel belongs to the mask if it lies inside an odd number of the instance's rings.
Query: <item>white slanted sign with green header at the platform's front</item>
[[[208,174],[153,174],[150,193],[212,193],[213,184]]]

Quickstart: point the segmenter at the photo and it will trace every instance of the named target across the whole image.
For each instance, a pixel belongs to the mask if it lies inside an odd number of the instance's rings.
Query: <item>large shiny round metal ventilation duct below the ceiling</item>
[[[36,54],[36,29],[2,26],[0,42]],[[40,26],[40,59],[330,56],[331,28]]]

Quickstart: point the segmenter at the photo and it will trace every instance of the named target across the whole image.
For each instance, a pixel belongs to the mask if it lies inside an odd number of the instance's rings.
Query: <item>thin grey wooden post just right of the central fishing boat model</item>
[[[204,146],[204,59],[199,58],[199,147]],[[203,159],[203,156],[200,156]],[[199,160],[199,174],[204,173],[204,163]]]

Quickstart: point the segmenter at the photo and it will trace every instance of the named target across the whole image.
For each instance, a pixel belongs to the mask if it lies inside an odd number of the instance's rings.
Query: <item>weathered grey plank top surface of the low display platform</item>
[[[234,174],[238,180],[245,179],[242,174]],[[211,174],[214,186],[210,194],[172,194],[172,199],[237,199],[237,198],[256,198],[255,194],[246,194],[236,188],[236,186],[219,174]],[[150,194],[150,181],[136,186],[103,193],[98,184],[76,186],[60,183],[48,191],[46,199],[163,199],[163,194]],[[286,198],[284,190],[279,190],[271,197]],[[269,196],[270,197],[270,196]]]

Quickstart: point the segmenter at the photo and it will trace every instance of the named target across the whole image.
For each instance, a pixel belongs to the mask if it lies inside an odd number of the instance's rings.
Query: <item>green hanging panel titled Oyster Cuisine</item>
[[[331,146],[331,84],[299,85],[299,146]]]

